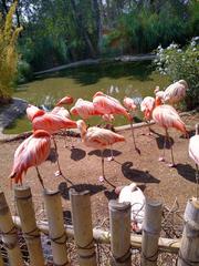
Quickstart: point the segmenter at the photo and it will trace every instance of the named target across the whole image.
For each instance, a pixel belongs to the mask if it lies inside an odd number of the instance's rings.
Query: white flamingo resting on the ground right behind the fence
[[[115,193],[118,194],[119,203],[130,203],[132,229],[136,233],[140,233],[143,229],[143,222],[145,216],[146,198],[144,193],[136,183],[132,183],[122,187],[116,187]]]

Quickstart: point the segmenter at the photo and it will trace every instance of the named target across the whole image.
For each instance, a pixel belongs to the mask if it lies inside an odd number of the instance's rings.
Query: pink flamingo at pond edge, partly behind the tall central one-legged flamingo
[[[102,112],[98,112],[94,104],[90,101],[78,99],[75,105],[70,110],[71,114],[80,115],[83,120],[87,120],[92,115],[102,115]]]

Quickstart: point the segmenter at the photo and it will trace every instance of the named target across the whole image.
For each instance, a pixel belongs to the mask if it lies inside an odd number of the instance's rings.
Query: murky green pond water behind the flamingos
[[[167,76],[160,76],[154,72],[150,61],[104,63],[42,75],[33,82],[20,85],[14,92],[14,96],[25,99],[36,105],[43,103],[53,105],[65,95],[72,95],[75,101],[78,98],[92,101],[96,91],[103,91],[121,101],[125,95],[140,101],[144,96],[154,95],[156,85],[161,89],[168,83]],[[112,86],[117,89],[112,90]],[[139,111],[135,115],[142,117]],[[88,120],[90,124],[98,122],[100,119],[96,117]],[[126,123],[127,121],[122,116],[117,116],[114,122],[115,125]],[[29,130],[31,130],[30,122],[27,117],[20,117],[9,129],[6,129],[4,133],[14,134]]]

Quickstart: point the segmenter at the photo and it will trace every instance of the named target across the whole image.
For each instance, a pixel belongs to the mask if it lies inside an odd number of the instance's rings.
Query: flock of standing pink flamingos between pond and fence
[[[188,135],[185,123],[181,121],[178,112],[172,106],[175,103],[181,101],[186,95],[186,90],[188,89],[187,82],[180,80],[170,84],[165,91],[159,91],[159,88],[155,90],[155,98],[146,96],[140,103],[140,110],[144,112],[145,120],[148,122],[154,120],[156,124],[165,129],[165,142],[164,142],[164,154],[159,157],[159,161],[165,161],[165,147],[166,142],[170,141],[168,129],[175,127],[176,130],[182,132],[186,136]],[[103,92],[97,92],[93,96],[93,102],[78,99],[74,106],[67,111],[63,105],[72,104],[73,98],[65,96],[60,100],[55,108],[45,112],[34,105],[29,104],[27,108],[28,119],[32,122],[33,133],[27,140],[24,140],[17,149],[13,158],[13,166],[10,174],[11,181],[14,183],[20,183],[22,185],[22,177],[27,171],[35,166],[38,177],[41,185],[44,188],[42,176],[39,172],[38,166],[42,164],[51,151],[51,140],[53,140],[55,150],[56,142],[54,134],[61,130],[78,129],[81,133],[82,142],[90,147],[100,149],[102,151],[102,176],[101,181],[107,181],[104,174],[104,156],[103,151],[116,143],[124,142],[125,137],[121,134],[113,132],[112,130],[86,125],[86,120],[92,115],[100,115],[104,121],[113,123],[114,115],[124,115],[132,125],[132,136],[134,142],[134,147],[139,151],[136,146],[136,141],[134,136],[133,117],[134,111],[137,108],[133,99],[125,98],[123,104],[115,98],[104,94]],[[78,115],[81,120],[71,120],[71,114]],[[189,155],[195,161],[197,165],[196,181],[198,184],[198,165],[199,165],[199,126],[196,126],[196,135],[189,141]],[[112,151],[112,149],[111,149]],[[169,166],[175,166],[172,147],[170,146],[171,163]],[[113,160],[113,153],[112,153]],[[61,173],[59,160],[59,172]],[[108,182],[108,181],[107,181]],[[197,188],[198,191],[198,188]],[[197,192],[198,197],[198,192]]]

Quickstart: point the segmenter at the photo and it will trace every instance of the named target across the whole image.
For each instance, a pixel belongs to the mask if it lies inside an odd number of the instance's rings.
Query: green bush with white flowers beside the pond
[[[187,81],[189,88],[186,96],[187,110],[197,108],[199,103],[199,37],[193,38],[184,49],[176,43],[171,43],[166,49],[159,45],[156,55],[154,62],[160,74],[168,75],[171,81]]]

